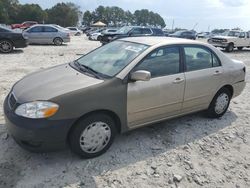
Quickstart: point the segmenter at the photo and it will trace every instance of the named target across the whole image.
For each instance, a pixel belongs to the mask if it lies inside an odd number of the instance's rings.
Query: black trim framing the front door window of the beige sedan
[[[154,50],[152,50],[151,52],[149,52],[147,55],[145,55],[145,57],[143,57],[128,73],[128,77],[131,73],[134,72],[135,68],[137,66],[139,66],[141,63],[143,63],[143,61],[148,57],[150,56],[152,53],[154,53],[155,51],[157,50],[160,50],[162,48],[171,48],[171,47],[176,47],[179,49],[179,72],[178,73],[174,73],[174,74],[168,74],[168,75],[164,75],[164,76],[157,76],[157,77],[152,77],[151,79],[154,79],[154,78],[160,78],[160,77],[165,77],[165,76],[171,76],[171,75],[175,75],[175,74],[180,74],[180,73],[183,73],[184,72],[184,62],[183,62],[183,55],[182,55],[182,46],[181,45],[178,45],[178,44],[173,44],[173,45],[165,45],[165,46],[160,46],[158,48],[155,48]]]

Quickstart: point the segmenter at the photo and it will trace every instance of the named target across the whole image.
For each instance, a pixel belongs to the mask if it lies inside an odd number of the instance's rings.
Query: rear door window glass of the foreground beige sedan
[[[186,71],[220,66],[220,60],[209,50],[201,47],[184,47]]]

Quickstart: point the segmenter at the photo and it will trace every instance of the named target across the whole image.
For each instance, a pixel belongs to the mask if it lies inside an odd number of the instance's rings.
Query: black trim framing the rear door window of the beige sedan
[[[199,71],[199,70],[205,70],[205,69],[210,69],[210,68],[214,68],[214,67],[221,67],[221,61],[220,58],[217,56],[217,54],[210,48],[203,46],[203,45],[199,45],[199,44],[185,44],[185,45],[181,45],[182,47],[182,57],[183,57],[183,70],[184,72],[192,72],[192,71]],[[206,51],[209,51],[211,53],[211,58],[212,58],[212,67],[209,68],[204,68],[204,69],[198,69],[198,70],[190,70],[187,71],[187,62],[186,62],[186,54],[185,54],[185,47],[191,47],[191,48],[201,48],[204,49]],[[217,59],[217,61],[219,62],[219,66],[214,66],[214,60],[213,60],[213,56]]]

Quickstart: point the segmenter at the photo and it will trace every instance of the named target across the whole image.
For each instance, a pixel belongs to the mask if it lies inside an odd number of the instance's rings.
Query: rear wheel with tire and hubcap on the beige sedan
[[[231,98],[231,92],[227,88],[221,88],[210,103],[207,109],[207,116],[210,118],[223,116],[228,109]]]

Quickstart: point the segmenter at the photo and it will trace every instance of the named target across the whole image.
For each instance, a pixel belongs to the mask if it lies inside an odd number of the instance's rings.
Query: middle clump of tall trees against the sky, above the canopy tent
[[[136,10],[134,13],[124,11],[120,7],[99,6],[94,11],[83,14],[83,23],[91,25],[102,21],[109,26],[141,25],[165,27],[164,19],[158,14],[147,9]]]

